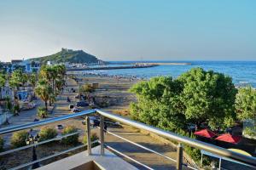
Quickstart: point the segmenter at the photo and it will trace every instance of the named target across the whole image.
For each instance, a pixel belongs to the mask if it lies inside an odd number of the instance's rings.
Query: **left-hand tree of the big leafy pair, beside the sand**
[[[183,105],[179,94],[182,88],[172,77],[155,77],[131,88],[137,103],[131,104],[131,117],[137,121],[176,131],[184,127]]]

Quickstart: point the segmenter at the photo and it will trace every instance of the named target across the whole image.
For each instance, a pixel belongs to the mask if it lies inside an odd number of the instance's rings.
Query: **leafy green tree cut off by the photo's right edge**
[[[239,88],[236,94],[236,115],[241,121],[256,118],[256,90],[247,87]]]

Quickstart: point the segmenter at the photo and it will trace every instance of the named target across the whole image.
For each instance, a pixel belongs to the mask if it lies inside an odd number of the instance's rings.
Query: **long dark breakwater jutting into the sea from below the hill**
[[[158,65],[129,65],[129,66],[102,66],[102,67],[87,67],[87,68],[67,68],[67,71],[94,71],[94,70],[118,70],[118,69],[139,69],[149,68]]]

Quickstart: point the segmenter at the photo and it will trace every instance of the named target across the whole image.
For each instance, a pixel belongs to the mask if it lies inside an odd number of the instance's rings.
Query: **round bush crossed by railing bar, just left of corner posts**
[[[73,126],[65,127],[63,130],[62,135],[66,135],[69,133],[76,133],[78,129]],[[61,143],[63,144],[78,144],[79,143],[79,134],[74,134],[72,136],[68,136],[67,138],[61,139]]]

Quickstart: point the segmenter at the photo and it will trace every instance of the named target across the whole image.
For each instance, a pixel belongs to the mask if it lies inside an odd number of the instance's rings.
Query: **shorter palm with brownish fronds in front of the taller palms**
[[[44,101],[45,110],[47,109],[47,101],[50,99],[52,94],[52,88],[49,87],[48,82],[44,79],[39,80],[38,86],[35,88],[35,94]]]

